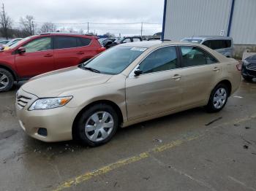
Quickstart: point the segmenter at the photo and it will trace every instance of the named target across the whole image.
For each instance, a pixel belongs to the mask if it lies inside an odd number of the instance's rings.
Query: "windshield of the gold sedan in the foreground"
[[[145,50],[143,47],[112,47],[80,67],[102,74],[119,74]]]

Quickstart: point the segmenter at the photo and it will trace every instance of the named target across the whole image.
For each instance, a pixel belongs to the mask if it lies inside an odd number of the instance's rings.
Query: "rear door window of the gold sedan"
[[[201,50],[199,47],[181,47],[183,67],[200,66],[217,63],[216,58]]]

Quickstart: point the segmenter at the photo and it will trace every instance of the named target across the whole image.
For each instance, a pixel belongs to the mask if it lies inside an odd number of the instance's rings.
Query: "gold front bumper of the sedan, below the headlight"
[[[34,139],[41,141],[68,141],[72,140],[72,125],[77,114],[77,108],[61,106],[55,109],[29,111],[29,106],[37,99],[34,95],[19,90],[18,96],[23,96],[29,100],[23,108],[16,101],[16,112],[20,127]],[[21,103],[23,104],[23,103]],[[47,135],[38,133],[39,128],[47,130]]]

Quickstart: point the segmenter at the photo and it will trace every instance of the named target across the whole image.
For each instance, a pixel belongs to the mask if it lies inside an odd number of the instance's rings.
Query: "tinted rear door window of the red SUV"
[[[72,36],[55,36],[54,39],[54,48],[55,49],[64,49],[77,47],[77,38]]]

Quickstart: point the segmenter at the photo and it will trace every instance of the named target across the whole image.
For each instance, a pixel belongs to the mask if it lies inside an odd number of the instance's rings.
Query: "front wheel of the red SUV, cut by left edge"
[[[9,91],[14,83],[14,77],[6,69],[0,68],[0,93]]]

